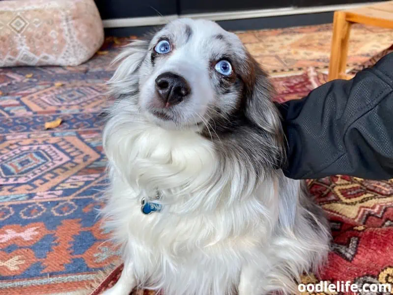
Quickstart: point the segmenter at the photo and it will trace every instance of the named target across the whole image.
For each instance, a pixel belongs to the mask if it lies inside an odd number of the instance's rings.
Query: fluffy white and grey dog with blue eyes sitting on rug
[[[273,88],[240,39],[178,19],[115,62],[102,213],[124,269],[104,294],[297,293],[325,261],[328,223],[283,175]]]

